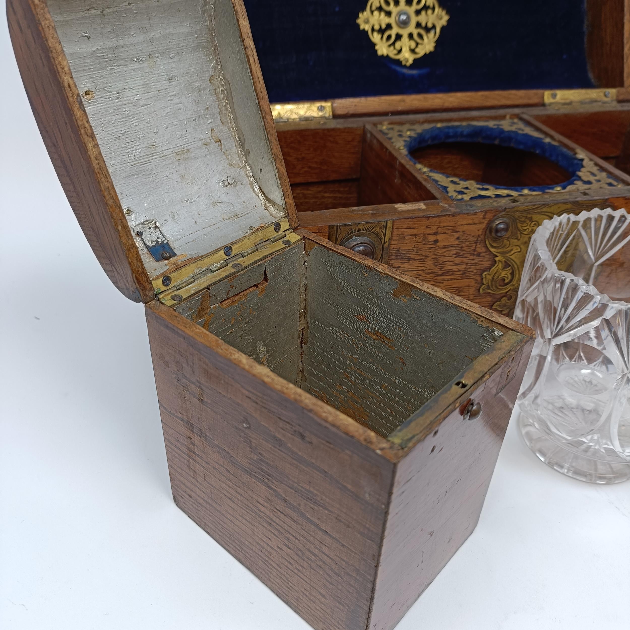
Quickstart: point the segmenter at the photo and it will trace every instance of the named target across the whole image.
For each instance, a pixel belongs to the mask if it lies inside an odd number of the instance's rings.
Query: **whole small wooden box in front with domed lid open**
[[[299,226],[240,0],[9,0],[86,238],[146,304],[173,496],[309,624],[396,625],[474,529],[532,333]]]

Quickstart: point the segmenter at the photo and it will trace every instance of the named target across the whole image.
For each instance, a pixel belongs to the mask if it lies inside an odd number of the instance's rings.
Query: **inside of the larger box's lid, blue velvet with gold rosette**
[[[624,85],[624,2],[244,0],[273,102]]]

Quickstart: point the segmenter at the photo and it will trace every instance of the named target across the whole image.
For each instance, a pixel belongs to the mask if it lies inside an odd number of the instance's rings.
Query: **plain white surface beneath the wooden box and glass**
[[[142,306],[72,215],[4,17],[0,85],[0,628],[307,629],[171,500]],[[564,478],[512,423],[477,529],[398,629],[627,630],[629,593],[630,484]]]

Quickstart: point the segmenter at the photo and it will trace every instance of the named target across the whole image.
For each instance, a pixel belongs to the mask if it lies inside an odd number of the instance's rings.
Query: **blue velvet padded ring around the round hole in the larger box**
[[[583,168],[583,161],[571,153],[563,146],[545,140],[536,135],[529,135],[518,132],[516,130],[506,130],[501,127],[491,127],[484,125],[467,125],[453,124],[453,125],[441,125],[438,127],[428,127],[421,130],[415,135],[410,135],[403,141],[405,151],[410,154],[415,149],[421,147],[427,147],[432,144],[440,144],[442,142],[480,142],[482,144],[498,144],[503,147],[513,147],[515,149],[521,149],[522,151],[531,151],[540,156],[544,156],[550,161],[559,164],[566,171],[571,173],[571,179],[555,186],[496,186],[488,185],[483,182],[479,182],[483,186],[491,186],[493,188],[501,188],[501,190],[511,190],[517,194],[527,193],[544,193],[549,190],[565,190],[568,186],[581,181],[579,171]],[[417,160],[409,156],[411,161],[415,164],[420,164]],[[432,173],[437,173],[432,169],[427,169],[425,175],[431,177]],[[442,173],[442,175],[450,176],[450,173]],[[448,189],[440,185],[439,181],[435,181],[441,190],[448,192]],[[616,185],[616,184],[612,184]],[[480,198],[473,197],[473,198]]]

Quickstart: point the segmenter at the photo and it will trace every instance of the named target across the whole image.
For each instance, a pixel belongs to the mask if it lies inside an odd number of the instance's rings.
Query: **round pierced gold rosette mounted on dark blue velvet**
[[[369,0],[357,24],[367,31],[376,52],[411,66],[435,50],[449,14],[437,0]]]

